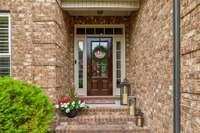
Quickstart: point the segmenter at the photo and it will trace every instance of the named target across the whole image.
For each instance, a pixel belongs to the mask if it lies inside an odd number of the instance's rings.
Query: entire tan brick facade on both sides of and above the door
[[[181,125],[200,132],[200,3],[181,11]],[[0,0],[11,14],[12,76],[44,88],[52,100],[74,85],[74,24],[125,24],[126,76],[151,132],[171,133],[172,0],[144,0],[130,17],[72,17],[57,0]]]

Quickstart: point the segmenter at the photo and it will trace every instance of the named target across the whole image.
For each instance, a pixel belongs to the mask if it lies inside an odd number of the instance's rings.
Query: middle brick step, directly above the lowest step
[[[68,124],[123,124],[127,122],[135,123],[135,117],[129,115],[78,115],[74,118],[61,117],[60,122]]]

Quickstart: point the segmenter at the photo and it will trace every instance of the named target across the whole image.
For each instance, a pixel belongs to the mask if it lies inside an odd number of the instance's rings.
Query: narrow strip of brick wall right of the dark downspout
[[[200,132],[200,1],[183,0],[181,12],[182,131]]]

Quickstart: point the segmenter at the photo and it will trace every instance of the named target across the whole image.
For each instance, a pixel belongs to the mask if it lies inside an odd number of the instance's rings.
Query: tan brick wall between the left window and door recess
[[[11,14],[12,76],[38,84],[54,100],[72,86],[69,19],[57,0],[0,1]]]

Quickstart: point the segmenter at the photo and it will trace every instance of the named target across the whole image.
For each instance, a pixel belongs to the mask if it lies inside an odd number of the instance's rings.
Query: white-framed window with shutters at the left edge
[[[0,77],[10,75],[10,16],[0,13]]]

